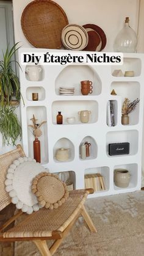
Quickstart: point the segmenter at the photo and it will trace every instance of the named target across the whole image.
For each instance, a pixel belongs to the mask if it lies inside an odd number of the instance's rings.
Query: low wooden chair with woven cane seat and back
[[[10,164],[20,156],[25,156],[20,145],[18,145],[15,150],[0,156],[0,210],[10,203],[9,194],[5,192],[5,174]],[[71,191],[67,202],[52,211],[41,208],[41,210],[31,215],[27,215],[19,210],[18,213],[12,216],[12,218],[5,222],[0,228],[0,241],[14,242],[32,240],[38,247],[41,255],[53,255],[80,215],[82,215],[85,222],[87,222],[89,229],[92,232],[96,232],[95,226],[84,207],[87,195],[92,192],[92,189]],[[4,232],[5,228],[21,214],[24,215],[24,220]],[[56,241],[48,248],[46,240]]]

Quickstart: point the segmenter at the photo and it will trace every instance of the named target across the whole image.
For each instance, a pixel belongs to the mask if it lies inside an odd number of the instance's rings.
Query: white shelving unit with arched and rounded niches
[[[32,49],[20,49],[30,53]],[[35,53],[43,49],[33,49]],[[50,51],[50,50],[49,50]],[[52,50],[51,50],[52,51]],[[29,81],[25,68],[20,70],[21,93],[25,106],[21,103],[23,128],[23,148],[26,155],[33,157],[34,136],[27,127],[31,123],[32,114],[43,125],[41,142],[41,164],[50,172],[71,171],[74,188],[84,188],[84,175],[100,173],[106,183],[105,191],[98,191],[90,197],[105,196],[140,189],[142,162],[142,123],[143,123],[143,54],[124,54],[122,66],[107,65],[44,65],[41,81]],[[123,72],[134,70],[134,77],[113,76],[113,70]],[[81,94],[81,81],[93,82],[93,93],[87,96]],[[59,95],[59,87],[74,87],[74,95]],[[110,92],[115,89],[117,95]],[[38,92],[39,100],[32,101],[32,92]],[[130,124],[121,124],[121,106],[125,97],[129,100],[140,98],[139,105],[130,114]],[[106,122],[107,101],[112,100],[115,114],[115,126],[109,127]],[[88,123],[81,123],[78,112],[90,110]],[[63,115],[63,124],[56,124],[57,112]],[[73,124],[67,123],[67,117],[75,117]],[[81,159],[81,144],[90,142],[90,156]],[[119,142],[130,143],[129,155],[109,156],[108,144]],[[60,147],[70,148],[66,162],[57,161],[56,150]],[[113,183],[113,171],[116,168],[126,168],[131,174],[128,188],[118,188]]]

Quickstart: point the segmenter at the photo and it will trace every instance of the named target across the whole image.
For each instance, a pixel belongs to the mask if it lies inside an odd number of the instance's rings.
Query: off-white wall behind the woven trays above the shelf
[[[21,13],[31,0],[13,0],[15,41],[24,47],[31,46],[21,30]],[[100,26],[107,36],[104,51],[113,51],[113,40],[123,27],[124,19],[129,16],[131,27],[137,31],[139,0],[55,0],[67,14],[69,23],[93,23]],[[33,47],[33,46],[32,46]]]

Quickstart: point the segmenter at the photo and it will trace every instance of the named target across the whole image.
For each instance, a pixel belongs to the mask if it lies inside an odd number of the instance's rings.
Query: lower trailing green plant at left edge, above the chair
[[[21,125],[15,114],[16,108],[0,108],[0,132],[2,145],[15,145],[18,137],[21,139]]]

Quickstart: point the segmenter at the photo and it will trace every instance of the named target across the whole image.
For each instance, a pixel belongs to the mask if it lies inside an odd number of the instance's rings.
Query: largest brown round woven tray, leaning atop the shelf
[[[21,27],[27,40],[37,48],[59,49],[68,18],[60,5],[50,0],[35,0],[26,6]]]

